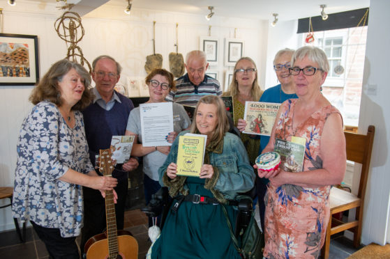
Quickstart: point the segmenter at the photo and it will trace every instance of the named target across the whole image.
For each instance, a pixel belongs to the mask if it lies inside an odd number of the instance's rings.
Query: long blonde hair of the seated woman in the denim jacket
[[[225,136],[225,133],[229,130],[229,120],[227,120],[226,110],[225,110],[225,104],[223,103],[223,100],[220,99],[220,97],[216,95],[204,95],[204,97],[200,98],[200,100],[196,104],[195,112],[194,112],[194,118],[193,123],[190,127],[190,132],[195,134],[200,134],[199,130],[197,130],[196,127],[196,114],[197,114],[197,108],[199,107],[199,104],[214,104],[217,107],[217,118],[218,123],[216,126],[216,130],[214,130],[211,138],[211,141],[220,141]]]

